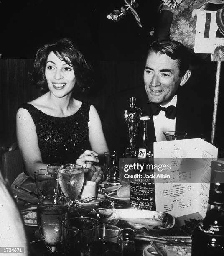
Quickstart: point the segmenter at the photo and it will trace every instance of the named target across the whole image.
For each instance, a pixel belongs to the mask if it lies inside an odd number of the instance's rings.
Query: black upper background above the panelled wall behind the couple
[[[107,19],[123,0],[1,0],[0,52],[2,58],[33,59],[43,44],[61,37],[74,39],[89,59],[139,59],[153,40],[160,0],[137,0],[134,16],[122,15],[119,22]]]

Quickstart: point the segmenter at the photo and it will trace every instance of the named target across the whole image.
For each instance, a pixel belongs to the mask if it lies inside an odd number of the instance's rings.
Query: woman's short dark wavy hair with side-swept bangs
[[[84,56],[68,38],[60,39],[52,44],[46,44],[38,49],[34,61],[34,70],[30,74],[31,80],[36,86],[45,90],[48,88],[45,67],[48,55],[53,51],[56,56],[74,69],[76,82],[83,90],[92,84],[92,66],[89,66]]]

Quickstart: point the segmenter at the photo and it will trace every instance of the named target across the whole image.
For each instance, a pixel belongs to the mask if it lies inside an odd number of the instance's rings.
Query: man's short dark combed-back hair
[[[177,60],[179,75],[182,77],[189,69],[189,52],[181,43],[175,40],[154,41],[148,50],[150,52],[166,54],[173,60]]]

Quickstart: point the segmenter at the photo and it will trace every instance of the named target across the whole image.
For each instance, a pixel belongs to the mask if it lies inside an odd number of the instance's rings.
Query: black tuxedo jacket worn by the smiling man
[[[153,116],[149,109],[148,95],[145,87],[137,87],[117,93],[107,101],[107,114],[103,119],[104,135],[110,150],[124,151],[128,148],[127,123],[124,110],[130,105],[130,97],[136,97],[136,106],[142,115],[150,116],[148,137],[151,143],[156,141]],[[185,131],[186,138],[205,138],[211,140],[212,102],[194,90],[179,87],[177,91],[176,131]]]

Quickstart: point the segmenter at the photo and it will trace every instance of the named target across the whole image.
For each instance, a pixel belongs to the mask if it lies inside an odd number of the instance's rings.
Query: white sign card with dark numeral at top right
[[[215,11],[201,11],[197,15],[194,52],[213,53],[216,46],[224,45],[224,38],[216,37],[219,30]]]

